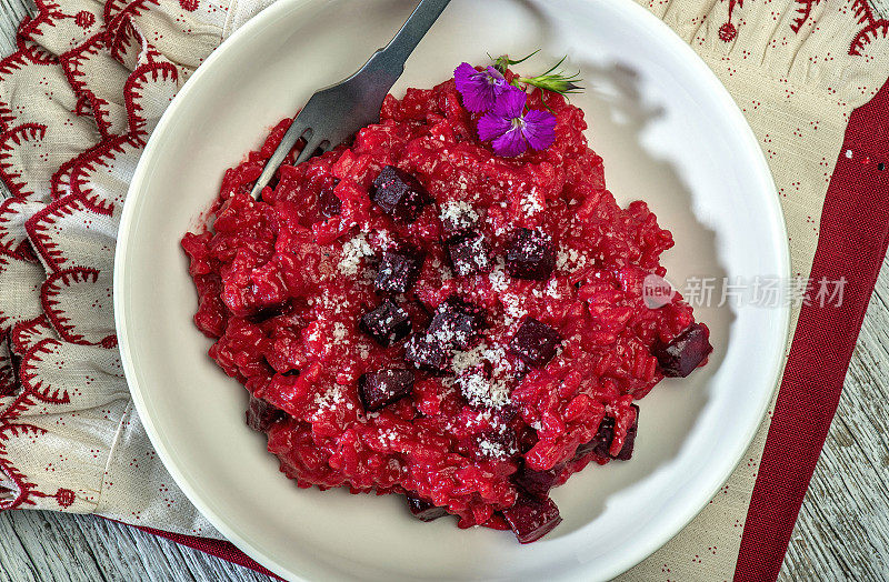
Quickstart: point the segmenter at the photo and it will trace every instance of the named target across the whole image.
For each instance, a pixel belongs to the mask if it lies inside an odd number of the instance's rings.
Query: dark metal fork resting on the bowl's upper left
[[[300,138],[306,138],[306,146],[296,163],[304,162],[319,149],[336,148],[366,126],[379,123],[382,100],[404,72],[404,61],[449,3],[450,0],[421,0],[389,44],[377,50],[358,72],[314,93],[266,162],[250,195],[259,199]]]

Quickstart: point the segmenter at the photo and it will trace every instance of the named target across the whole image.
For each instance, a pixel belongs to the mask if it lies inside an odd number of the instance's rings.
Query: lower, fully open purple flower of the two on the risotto
[[[528,96],[519,88],[509,87],[497,98],[493,109],[479,119],[479,139],[493,140],[498,155],[512,158],[530,146],[546,150],[556,141],[556,116],[533,109],[525,113]]]

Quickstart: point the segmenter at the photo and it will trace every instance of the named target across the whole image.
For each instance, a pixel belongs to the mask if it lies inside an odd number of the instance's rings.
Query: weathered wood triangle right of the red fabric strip
[[[785,559],[785,580],[889,579],[889,259]]]

